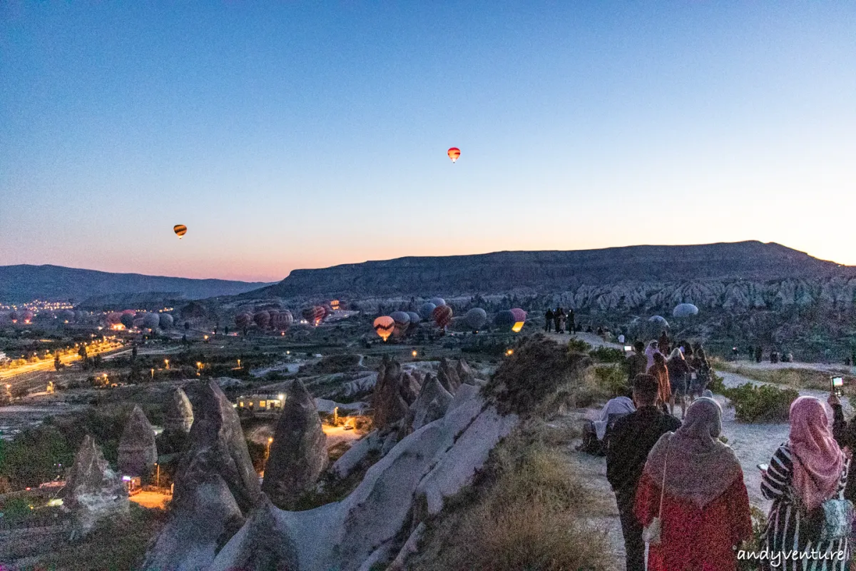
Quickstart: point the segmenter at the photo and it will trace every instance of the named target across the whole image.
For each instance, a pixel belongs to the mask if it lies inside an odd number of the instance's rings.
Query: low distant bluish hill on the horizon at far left
[[[0,300],[84,300],[93,295],[169,292],[176,297],[202,299],[235,295],[264,287],[266,283],[232,282],[186,277],[114,274],[60,265],[0,266]]]

